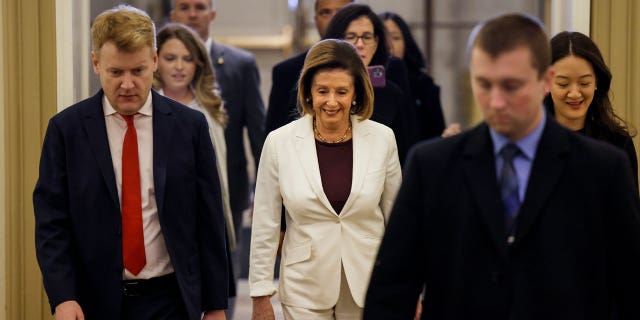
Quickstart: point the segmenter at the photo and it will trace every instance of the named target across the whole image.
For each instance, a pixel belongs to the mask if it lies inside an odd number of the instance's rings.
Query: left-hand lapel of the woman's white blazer
[[[296,156],[303,168],[309,187],[316,194],[318,200],[327,207],[333,214],[337,213],[333,210],[327,195],[322,188],[322,178],[320,177],[320,167],[318,165],[318,154],[316,150],[316,142],[313,137],[313,124],[310,115],[304,116],[295,122],[293,144],[296,150]]]

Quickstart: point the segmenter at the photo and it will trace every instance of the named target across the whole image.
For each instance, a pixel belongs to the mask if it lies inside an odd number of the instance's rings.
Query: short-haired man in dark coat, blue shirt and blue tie
[[[537,19],[491,19],[469,48],[484,122],[411,152],[364,318],[411,319],[424,289],[423,319],[640,319],[627,157],[545,114]]]

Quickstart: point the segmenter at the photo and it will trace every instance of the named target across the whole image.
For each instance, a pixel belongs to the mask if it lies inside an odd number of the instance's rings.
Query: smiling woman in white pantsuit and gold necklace
[[[269,134],[253,211],[250,295],[254,319],[273,318],[269,297],[281,210],[286,225],[279,299],[287,319],[358,319],[401,182],[393,131],[367,120],[373,89],[357,51],[324,40],[307,54],[302,117]]]

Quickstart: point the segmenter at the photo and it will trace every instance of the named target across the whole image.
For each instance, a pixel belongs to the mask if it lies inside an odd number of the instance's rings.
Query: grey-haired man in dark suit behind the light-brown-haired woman
[[[260,94],[260,73],[255,58],[248,51],[216,43],[209,34],[210,24],[217,15],[213,0],[173,0],[171,21],[186,24],[202,38],[211,54],[211,63],[218,80],[224,107],[229,115],[225,129],[227,143],[227,175],[229,202],[237,244],[242,228],[242,215],[251,205],[253,187],[249,182],[247,155],[244,148],[244,128],[247,128],[255,168],[258,167],[265,139],[265,109]],[[240,256],[245,250],[238,246],[233,252],[233,275],[240,274]],[[233,299],[233,298],[232,298]],[[229,318],[234,302],[230,301]]]

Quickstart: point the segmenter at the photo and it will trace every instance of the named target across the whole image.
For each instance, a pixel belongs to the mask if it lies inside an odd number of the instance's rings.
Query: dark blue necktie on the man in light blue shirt
[[[520,195],[518,193],[518,176],[513,165],[513,158],[520,154],[520,149],[513,143],[508,143],[500,155],[504,160],[500,175],[500,193],[504,207],[504,223],[507,234],[512,233],[513,224],[520,209]]]

